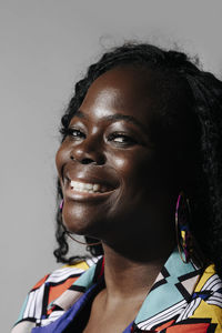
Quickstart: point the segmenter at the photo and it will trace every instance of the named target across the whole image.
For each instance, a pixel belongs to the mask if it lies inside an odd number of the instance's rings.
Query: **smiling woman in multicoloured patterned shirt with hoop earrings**
[[[222,83],[188,57],[124,44],[62,117],[54,254],[17,332],[222,332]],[[103,255],[102,255],[103,254]]]

